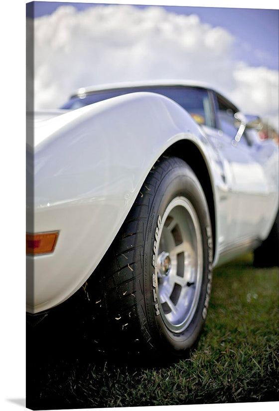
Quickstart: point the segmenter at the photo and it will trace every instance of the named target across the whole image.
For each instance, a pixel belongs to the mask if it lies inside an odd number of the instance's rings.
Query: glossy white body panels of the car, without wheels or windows
[[[255,248],[278,210],[278,150],[225,137],[148,92],[39,113],[27,136],[27,232],[59,235],[52,253],[26,257],[27,312],[62,303],[94,275],[152,166],[178,141],[195,145],[210,177],[213,265]]]

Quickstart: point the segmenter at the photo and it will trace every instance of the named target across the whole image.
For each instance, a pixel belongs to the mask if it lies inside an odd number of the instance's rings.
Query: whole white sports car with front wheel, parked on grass
[[[96,303],[115,341],[125,334],[179,356],[201,333],[212,267],[249,250],[257,265],[278,265],[278,147],[259,139],[258,118],[210,87],[83,88],[35,120],[29,316],[42,318],[89,277],[94,287],[101,270]]]

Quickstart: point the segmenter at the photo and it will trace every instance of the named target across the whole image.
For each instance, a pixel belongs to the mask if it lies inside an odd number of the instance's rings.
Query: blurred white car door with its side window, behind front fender
[[[221,152],[230,179],[231,209],[229,214],[229,243],[233,246],[260,238],[264,217],[274,206],[275,189],[271,190],[265,170],[263,152],[245,132],[237,143],[234,114],[238,109],[220,94],[213,93],[216,124],[219,129],[215,146]],[[228,177],[229,176],[229,177]]]

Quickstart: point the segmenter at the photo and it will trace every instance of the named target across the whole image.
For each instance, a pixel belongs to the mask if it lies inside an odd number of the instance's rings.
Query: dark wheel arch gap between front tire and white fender
[[[168,147],[163,156],[174,156],[184,160],[193,170],[197,176],[203,192],[206,197],[207,205],[209,208],[209,214],[212,225],[213,236],[213,255],[216,255],[216,206],[214,201],[213,184],[210,178],[210,173],[206,161],[197,147],[197,145],[191,140],[179,140],[173,145]]]

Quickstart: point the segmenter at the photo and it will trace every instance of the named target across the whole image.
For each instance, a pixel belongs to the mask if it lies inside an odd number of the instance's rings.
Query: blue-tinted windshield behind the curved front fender
[[[198,124],[215,127],[215,118],[209,93],[204,88],[185,86],[150,86],[133,87],[125,89],[104,90],[89,93],[83,96],[72,97],[62,109],[77,109],[88,104],[108,98],[121,96],[123,94],[135,93],[139,91],[149,91],[162,94],[178,103],[187,110]]]

